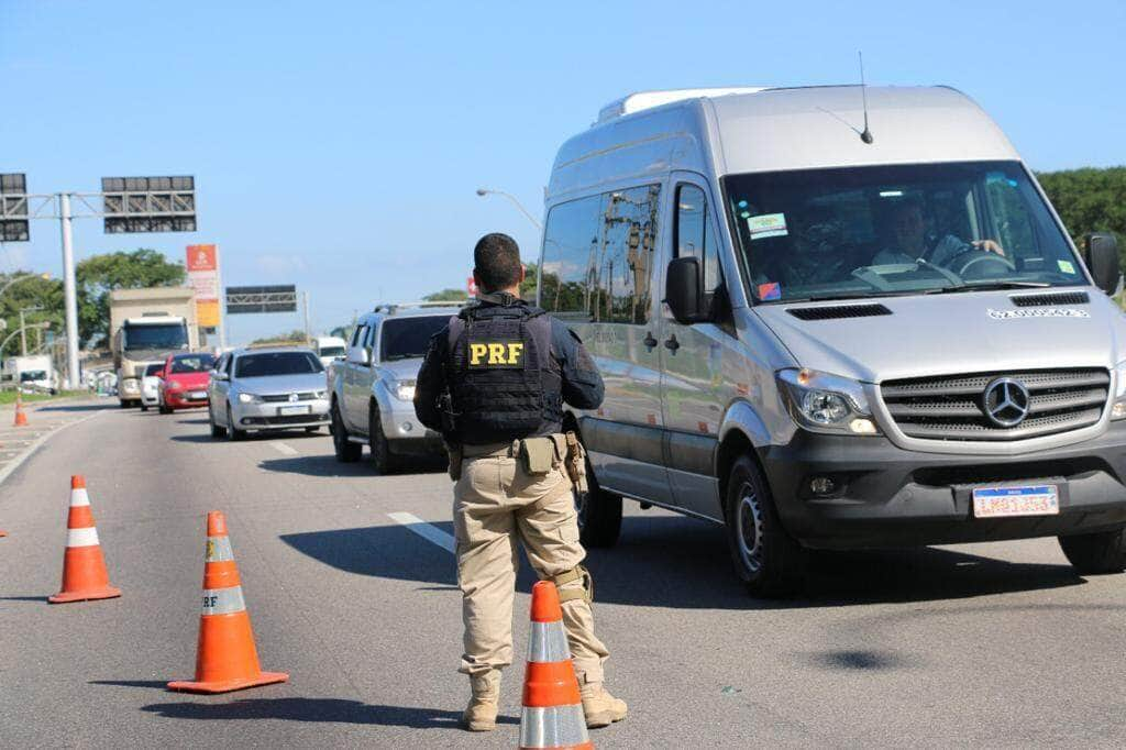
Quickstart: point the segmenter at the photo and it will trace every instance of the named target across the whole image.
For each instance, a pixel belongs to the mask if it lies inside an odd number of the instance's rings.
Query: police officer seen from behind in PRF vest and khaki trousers
[[[572,499],[586,481],[582,447],[563,435],[563,404],[595,409],[602,378],[574,333],[519,298],[524,266],[506,234],[473,249],[477,303],[430,341],[414,391],[419,421],[440,430],[450,453],[457,580],[473,731],[497,726],[500,670],[512,663],[517,542],[540,579],[554,581],[587,725],[625,718],[602,687],[609,655],[595,636],[592,582]]]

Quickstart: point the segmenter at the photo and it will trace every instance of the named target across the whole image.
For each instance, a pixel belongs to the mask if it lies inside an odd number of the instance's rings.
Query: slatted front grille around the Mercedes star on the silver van
[[[1011,427],[989,416],[986,390],[999,378],[1028,393],[1025,418]],[[904,435],[931,440],[1025,440],[1090,427],[1110,395],[1105,369],[1021,370],[886,381],[881,396]],[[1017,401],[1022,399],[1019,393]],[[993,404],[994,411],[997,404]],[[1011,420],[1013,411],[999,414]]]

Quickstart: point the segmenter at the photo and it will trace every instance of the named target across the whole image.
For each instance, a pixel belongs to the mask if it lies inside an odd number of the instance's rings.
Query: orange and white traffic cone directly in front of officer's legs
[[[531,589],[531,637],[524,672],[520,748],[593,748],[579,680],[563,630],[560,595],[551,581]]]

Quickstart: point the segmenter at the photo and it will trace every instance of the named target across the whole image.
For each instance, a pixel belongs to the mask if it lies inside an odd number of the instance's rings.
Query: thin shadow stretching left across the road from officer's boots
[[[252,698],[232,703],[157,703],[142,711],[169,718],[233,721],[280,718],[292,722],[339,722],[411,729],[456,729],[461,713],[438,708],[381,706],[342,698]],[[519,724],[515,716],[498,716],[500,724]]]

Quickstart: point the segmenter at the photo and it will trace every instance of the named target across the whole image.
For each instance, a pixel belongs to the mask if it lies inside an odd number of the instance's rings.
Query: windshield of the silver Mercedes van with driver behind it
[[[760,302],[1085,285],[1015,161],[724,178]]]

